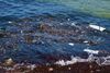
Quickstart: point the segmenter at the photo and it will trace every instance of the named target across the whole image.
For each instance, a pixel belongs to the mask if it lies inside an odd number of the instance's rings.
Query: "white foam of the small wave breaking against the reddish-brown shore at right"
[[[95,57],[94,54],[89,54],[87,59],[82,59],[80,57],[72,57],[72,60],[59,60],[56,61],[55,64],[58,65],[69,65],[69,64],[75,64],[77,62],[96,62],[98,65],[110,65],[110,56],[108,57]]]

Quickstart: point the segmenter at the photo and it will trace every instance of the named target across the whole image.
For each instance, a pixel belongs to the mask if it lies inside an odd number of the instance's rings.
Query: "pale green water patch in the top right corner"
[[[109,0],[40,0],[42,2],[55,2],[64,4],[72,10],[85,12],[91,15],[110,19]]]

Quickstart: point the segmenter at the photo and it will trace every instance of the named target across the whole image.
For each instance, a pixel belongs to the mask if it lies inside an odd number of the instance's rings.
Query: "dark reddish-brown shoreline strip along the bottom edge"
[[[110,73],[110,65],[98,65],[95,62],[81,62],[69,65],[14,64],[0,66],[0,73]]]

